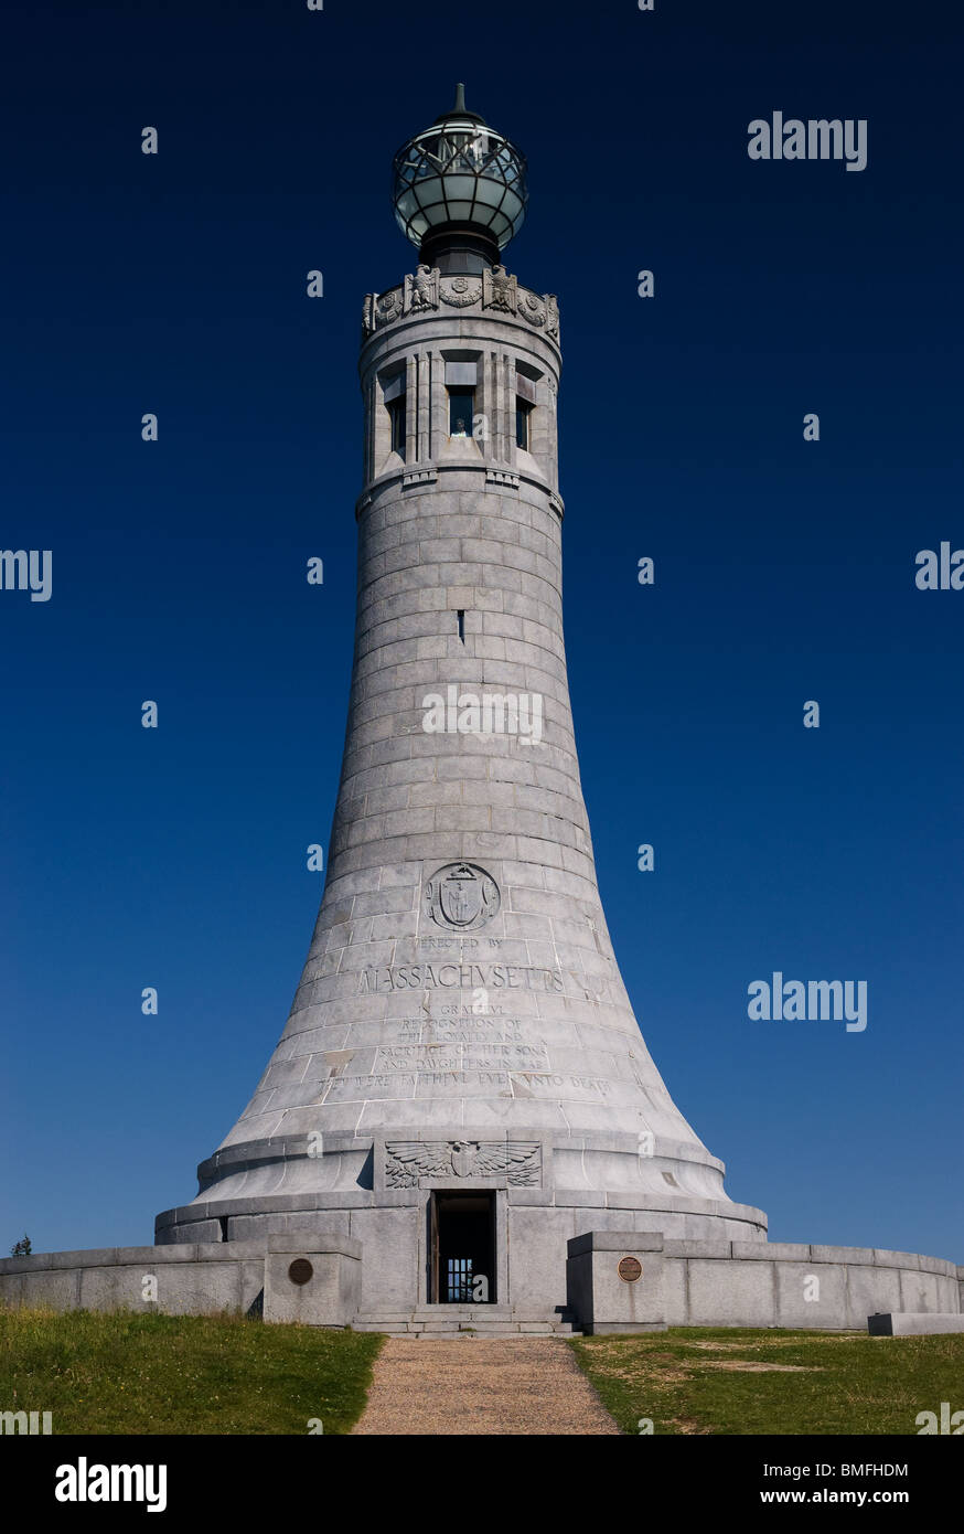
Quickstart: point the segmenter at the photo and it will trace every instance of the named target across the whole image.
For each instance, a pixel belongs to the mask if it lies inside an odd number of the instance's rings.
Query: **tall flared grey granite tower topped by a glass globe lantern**
[[[526,163],[455,107],[395,156],[325,893],[254,1097],[158,1241],[362,1243],[365,1312],[550,1312],[589,1230],[756,1239],[605,927],[562,644],[559,313],[501,264]],[[478,1279],[484,1282],[478,1282]]]

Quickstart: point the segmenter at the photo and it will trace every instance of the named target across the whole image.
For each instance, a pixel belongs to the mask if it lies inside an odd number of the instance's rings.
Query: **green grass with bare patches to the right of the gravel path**
[[[631,1434],[641,1417],[654,1433],[915,1434],[918,1411],[964,1408],[964,1336],[670,1327],[570,1345]]]

